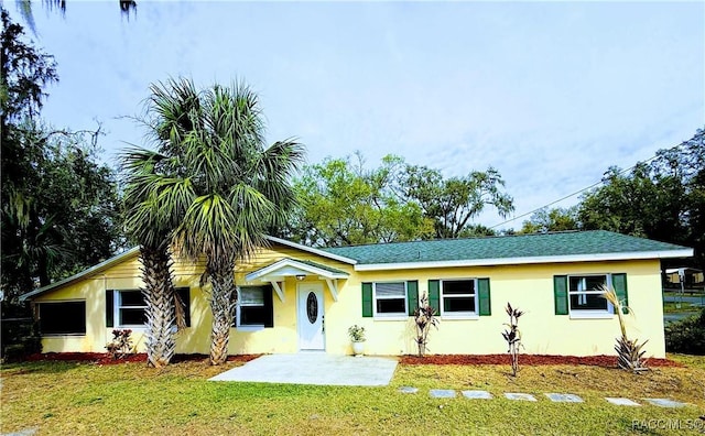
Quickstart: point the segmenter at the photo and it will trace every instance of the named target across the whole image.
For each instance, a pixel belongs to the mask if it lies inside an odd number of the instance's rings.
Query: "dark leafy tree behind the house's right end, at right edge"
[[[584,229],[693,247],[695,262],[705,268],[703,129],[674,148],[660,150],[651,163],[639,163],[628,173],[610,167],[604,181],[582,197],[578,220]]]

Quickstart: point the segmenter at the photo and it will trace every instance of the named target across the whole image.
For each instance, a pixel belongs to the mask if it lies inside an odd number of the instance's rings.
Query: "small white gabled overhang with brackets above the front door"
[[[350,274],[315,262],[284,258],[257,271],[252,271],[245,276],[245,280],[248,282],[259,281],[270,283],[274,288],[276,296],[279,296],[279,299],[283,303],[286,277],[293,276],[296,277],[296,280],[304,280],[310,275],[325,281],[328,291],[330,292],[330,296],[335,302],[337,302],[338,280],[347,279]]]

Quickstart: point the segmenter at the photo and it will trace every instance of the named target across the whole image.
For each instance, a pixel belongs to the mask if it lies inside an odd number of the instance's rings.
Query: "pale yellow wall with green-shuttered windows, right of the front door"
[[[627,273],[629,305],[634,316],[626,316],[628,335],[649,339],[647,356],[665,356],[663,336],[663,306],[659,261],[554,263],[541,265],[509,265],[496,268],[457,268],[443,270],[408,270],[366,273],[348,285],[346,304],[340,312],[360,313],[360,282],[389,280],[419,280],[419,295],[429,291],[429,280],[489,277],[491,316],[475,319],[441,318],[437,329],[429,335],[430,353],[485,355],[505,353],[507,345],[501,337],[509,321],[507,303],[524,312],[519,319],[523,352],[540,355],[592,356],[615,355],[615,339],[620,335],[617,315],[607,319],[576,319],[570,315],[555,315],[553,276],[562,274]],[[337,307],[338,308],[338,307]],[[359,318],[357,319],[359,321]],[[350,319],[352,321],[352,319]],[[367,333],[367,350],[372,355],[415,353],[413,323],[362,318]],[[337,338],[339,339],[339,338]],[[339,342],[338,342],[339,344]],[[335,352],[343,352],[338,345]]]

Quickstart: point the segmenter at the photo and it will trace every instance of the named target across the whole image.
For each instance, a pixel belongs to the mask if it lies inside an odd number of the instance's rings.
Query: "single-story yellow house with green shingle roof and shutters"
[[[415,353],[413,310],[422,295],[441,323],[427,351],[503,353],[505,306],[519,320],[524,352],[614,355],[614,307],[597,286],[614,286],[636,314],[628,333],[663,358],[660,260],[693,250],[608,231],[312,248],[279,238],[234,271],[239,286],[229,352],[351,352],[348,328],[364,326],[369,355]],[[208,353],[208,288],[203,262],[174,259],[188,327],[178,353]],[[32,302],[45,352],[102,352],[113,328],[130,328],[143,349],[139,249],[23,295]]]

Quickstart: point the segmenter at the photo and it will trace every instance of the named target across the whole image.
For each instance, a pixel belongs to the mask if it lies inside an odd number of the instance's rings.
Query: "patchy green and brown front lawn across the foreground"
[[[400,366],[386,388],[207,381],[236,362],[213,368],[186,361],[162,371],[144,363],[7,364],[0,371],[0,434],[682,434],[649,428],[668,426],[663,419],[704,428],[698,416],[705,412],[705,358],[671,358],[687,367],[641,375],[584,366],[521,367],[512,378],[508,366]],[[420,391],[402,394],[403,385]],[[437,400],[430,389],[479,389],[496,397]],[[533,393],[539,402],[508,401],[503,392]],[[585,403],[552,403],[547,392],[575,393]],[[605,396],[691,405],[616,406]]]

